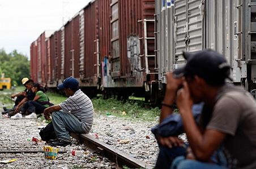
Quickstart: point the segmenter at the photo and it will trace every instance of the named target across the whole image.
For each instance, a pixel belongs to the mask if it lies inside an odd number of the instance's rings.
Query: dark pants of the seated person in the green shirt
[[[44,113],[44,109],[46,107],[44,105],[41,105],[40,103],[36,101],[27,101],[23,108],[21,109],[22,114],[24,114],[26,111],[28,114],[35,112],[36,114]]]

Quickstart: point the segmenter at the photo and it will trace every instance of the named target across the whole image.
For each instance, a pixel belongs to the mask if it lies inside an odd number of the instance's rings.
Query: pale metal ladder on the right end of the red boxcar
[[[147,74],[158,74],[158,73],[150,73],[150,70],[148,69],[148,57],[154,57],[155,58],[155,65],[156,65],[156,55],[148,55],[148,40],[151,40],[151,39],[155,40],[155,36],[154,37],[147,37],[147,23],[148,22],[154,22],[155,23],[155,20],[153,20],[153,19],[138,20],[138,22],[142,22],[142,21],[143,21],[143,25],[144,25],[144,37],[139,38],[139,39],[140,40],[144,39],[144,55],[140,55],[140,57],[142,57],[142,56],[145,57],[145,66],[146,66],[146,73]]]

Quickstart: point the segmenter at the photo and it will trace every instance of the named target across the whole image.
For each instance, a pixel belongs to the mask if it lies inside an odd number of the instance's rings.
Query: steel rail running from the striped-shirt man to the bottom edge
[[[107,157],[110,161],[115,162],[119,167],[127,166],[129,168],[153,168],[149,164],[139,161],[138,159],[135,159],[130,155],[93,138],[92,136],[86,134],[71,134],[71,136],[86,144],[87,148],[94,150],[98,154]]]

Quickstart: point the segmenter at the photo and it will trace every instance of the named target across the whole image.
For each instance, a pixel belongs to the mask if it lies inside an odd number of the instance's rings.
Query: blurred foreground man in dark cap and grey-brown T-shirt
[[[255,100],[225,82],[230,67],[223,55],[203,50],[184,57],[185,67],[167,74],[166,92],[177,91],[177,106],[191,149],[187,158],[174,159],[172,168],[256,168]],[[197,126],[191,106],[201,101],[204,106]],[[172,104],[172,97],[165,97],[165,111]],[[177,145],[178,140],[170,139],[168,144]],[[222,166],[211,161],[220,148],[224,152],[221,159],[226,159]]]

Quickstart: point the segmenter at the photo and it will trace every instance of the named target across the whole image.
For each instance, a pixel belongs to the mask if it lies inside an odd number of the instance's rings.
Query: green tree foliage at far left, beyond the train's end
[[[30,77],[30,63],[27,56],[24,56],[14,50],[10,54],[0,49],[0,68],[5,77],[10,77],[12,84],[22,85],[21,79]]]

